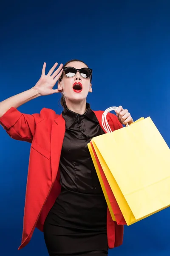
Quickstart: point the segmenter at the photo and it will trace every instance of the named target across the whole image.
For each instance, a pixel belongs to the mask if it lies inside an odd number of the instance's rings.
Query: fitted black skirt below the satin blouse
[[[104,195],[62,188],[44,223],[50,256],[108,255],[107,204]]]

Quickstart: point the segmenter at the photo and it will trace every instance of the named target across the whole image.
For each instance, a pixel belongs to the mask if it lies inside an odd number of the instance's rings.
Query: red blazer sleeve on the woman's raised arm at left
[[[34,137],[35,128],[43,118],[40,114],[23,114],[17,108],[11,107],[0,118],[0,125],[14,140],[23,140],[29,143]]]

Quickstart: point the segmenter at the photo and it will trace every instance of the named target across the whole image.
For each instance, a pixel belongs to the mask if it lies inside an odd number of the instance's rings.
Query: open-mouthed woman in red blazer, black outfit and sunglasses
[[[7,133],[31,143],[19,249],[37,227],[44,232],[50,256],[108,255],[108,247],[122,244],[123,226],[111,220],[87,147],[92,137],[105,133],[103,112],[92,111],[86,102],[92,70],[71,60],[57,70],[54,64],[45,75],[45,66],[34,87],[0,102],[0,123]],[[57,81],[58,89],[53,89]],[[33,115],[17,110],[31,99],[59,92],[61,115],[46,108]],[[121,106],[107,118],[112,131],[133,122]]]

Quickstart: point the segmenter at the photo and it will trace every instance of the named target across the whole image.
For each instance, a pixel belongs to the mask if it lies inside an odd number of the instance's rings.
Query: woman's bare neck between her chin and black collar
[[[66,101],[67,108],[77,114],[84,114],[86,111],[86,99],[81,102]]]

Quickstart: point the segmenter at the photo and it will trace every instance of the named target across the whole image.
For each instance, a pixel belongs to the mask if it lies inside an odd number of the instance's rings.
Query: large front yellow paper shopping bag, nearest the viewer
[[[127,225],[170,206],[170,149],[150,117],[91,143]]]

